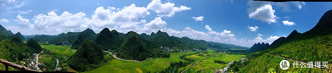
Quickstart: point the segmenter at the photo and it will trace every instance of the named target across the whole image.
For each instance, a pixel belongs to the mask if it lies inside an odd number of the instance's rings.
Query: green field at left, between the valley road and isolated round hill
[[[69,58],[77,51],[75,49],[70,49],[70,46],[41,45],[41,48],[47,49],[50,52],[54,52],[58,55],[62,55],[65,58]]]

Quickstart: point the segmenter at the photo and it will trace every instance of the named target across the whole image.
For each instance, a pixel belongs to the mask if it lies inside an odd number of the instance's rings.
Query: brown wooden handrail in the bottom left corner
[[[24,70],[24,71],[36,71],[36,70],[29,69],[29,68],[27,68],[25,66],[14,64],[12,62],[5,61],[5,60],[2,60],[2,59],[0,59],[0,63],[5,64],[6,71],[9,70],[8,66],[14,67],[14,68],[19,69],[19,70]],[[36,71],[36,72],[38,72],[38,71]]]

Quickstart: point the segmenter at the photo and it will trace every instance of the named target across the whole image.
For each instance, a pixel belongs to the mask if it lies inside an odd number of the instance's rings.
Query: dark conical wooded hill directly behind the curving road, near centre
[[[129,60],[145,60],[149,57],[169,57],[161,50],[160,45],[142,39],[136,32],[130,31],[117,50],[117,57]]]

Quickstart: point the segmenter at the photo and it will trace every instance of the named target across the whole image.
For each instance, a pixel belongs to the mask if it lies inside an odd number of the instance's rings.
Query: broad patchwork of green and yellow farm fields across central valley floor
[[[209,50],[207,51],[208,53],[199,53],[202,54],[201,56],[198,56],[198,54],[196,55],[188,55],[188,58],[193,58],[195,59],[195,63],[208,57],[209,55],[214,55],[216,54],[216,52]],[[108,60],[107,64],[90,70],[90,71],[86,71],[83,73],[146,73],[146,72],[157,72],[160,71],[162,69],[165,69],[169,66],[169,64],[173,61],[185,61],[180,59],[180,55],[187,55],[187,54],[194,54],[196,52],[180,52],[180,53],[176,53],[176,54],[171,54],[171,57],[169,58],[150,58],[147,59],[146,61],[143,62],[133,62],[133,61],[124,61],[124,60],[119,60],[119,59],[113,59],[113,60]],[[219,56],[219,57],[210,57],[208,59],[206,59],[205,61],[201,62],[200,65],[201,66],[194,66],[195,68],[197,67],[202,67],[202,68],[210,68],[209,66],[214,66],[215,68],[223,68],[226,65],[220,65],[218,63],[214,63],[214,60],[222,60],[222,61],[237,61],[241,59],[241,56],[245,56],[251,53],[240,53],[240,52],[232,52],[231,54],[229,53],[218,53],[215,56]],[[223,56],[220,56],[223,55]],[[112,57],[107,55],[104,55],[104,57]],[[180,68],[178,71],[182,71],[185,68],[188,68],[189,66],[191,66],[192,64],[189,64],[185,67]]]

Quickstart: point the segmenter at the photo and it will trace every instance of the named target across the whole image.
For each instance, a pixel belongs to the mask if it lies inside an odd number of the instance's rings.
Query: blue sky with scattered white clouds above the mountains
[[[331,2],[243,0],[0,0],[0,24],[13,33],[60,34],[107,27],[139,34],[161,30],[177,37],[251,47],[293,30],[310,30]]]

